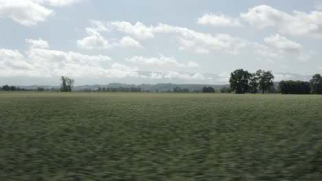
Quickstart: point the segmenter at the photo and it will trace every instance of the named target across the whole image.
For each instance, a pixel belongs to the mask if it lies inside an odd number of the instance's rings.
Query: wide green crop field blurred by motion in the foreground
[[[0,180],[322,180],[322,96],[0,93]]]

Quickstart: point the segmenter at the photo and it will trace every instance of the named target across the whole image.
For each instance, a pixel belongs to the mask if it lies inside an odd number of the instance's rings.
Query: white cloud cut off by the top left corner
[[[12,19],[21,25],[36,25],[53,14],[53,10],[32,1],[0,0],[0,17]]]

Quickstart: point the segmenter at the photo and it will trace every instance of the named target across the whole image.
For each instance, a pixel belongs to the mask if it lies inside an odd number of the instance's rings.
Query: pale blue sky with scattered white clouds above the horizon
[[[226,84],[322,72],[322,0],[0,0],[0,84]]]

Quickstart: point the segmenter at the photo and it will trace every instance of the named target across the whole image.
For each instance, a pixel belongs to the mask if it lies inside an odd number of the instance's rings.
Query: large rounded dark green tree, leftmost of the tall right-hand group
[[[249,88],[248,82],[251,74],[243,69],[237,69],[230,73],[230,88],[237,94],[244,94]]]

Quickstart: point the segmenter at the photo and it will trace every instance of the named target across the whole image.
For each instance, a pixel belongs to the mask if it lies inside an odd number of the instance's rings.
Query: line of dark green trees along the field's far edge
[[[229,83],[230,86],[224,86],[219,89],[221,93],[282,93],[282,94],[322,94],[322,77],[320,74],[313,75],[310,82],[306,81],[293,81],[282,80],[279,82],[277,90],[274,86],[274,75],[272,71],[258,70],[255,73],[249,73],[244,69],[237,69],[230,73]],[[74,86],[74,80],[69,77],[61,77],[62,92],[71,92]],[[44,89],[38,87],[36,89],[20,88],[17,86],[5,85],[0,87],[2,91],[55,91],[56,89]],[[97,90],[83,89],[78,90],[83,92],[149,92],[149,90],[142,90],[140,87],[99,87]],[[156,90],[158,92],[158,90]],[[175,87],[173,90],[167,90],[163,92],[172,93],[215,93],[215,88],[211,86],[204,86],[201,90],[189,90],[189,88]]]

